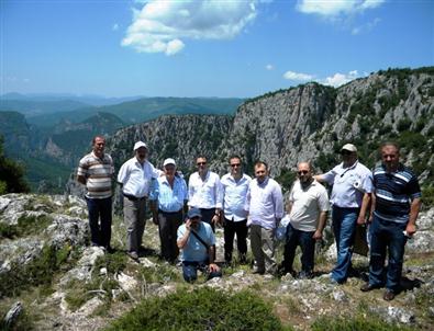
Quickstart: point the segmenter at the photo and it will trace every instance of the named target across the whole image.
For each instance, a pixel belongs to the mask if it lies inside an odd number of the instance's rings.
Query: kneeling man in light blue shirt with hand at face
[[[178,228],[177,244],[181,250],[182,275],[186,282],[194,282],[198,270],[207,274],[207,281],[222,276],[220,267],[214,263],[214,232],[209,224],[201,220],[198,208],[191,208],[186,224]]]

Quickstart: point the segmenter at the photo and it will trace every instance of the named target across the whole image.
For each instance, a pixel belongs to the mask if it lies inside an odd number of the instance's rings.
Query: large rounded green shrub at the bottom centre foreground
[[[269,304],[252,292],[178,290],[143,300],[108,330],[283,330]]]

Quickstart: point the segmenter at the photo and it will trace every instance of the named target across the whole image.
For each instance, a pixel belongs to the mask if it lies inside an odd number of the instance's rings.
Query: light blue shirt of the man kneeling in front
[[[180,240],[186,233],[187,228],[186,225],[181,225],[178,228],[178,240]],[[209,246],[215,244],[214,232],[212,231],[211,226],[208,222],[201,221],[199,224],[199,229],[196,229],[196,232],[202,238],[204,242]],[[189,262],[203,262],[208,260],[208,250],[203,243],[199,241],[198,238],[193,233],[190,232],[188,237],[186,246],[181,249],[181,261]]]

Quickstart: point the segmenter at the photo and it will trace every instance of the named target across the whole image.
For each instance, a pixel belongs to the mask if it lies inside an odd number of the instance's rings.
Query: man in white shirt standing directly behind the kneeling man
[[[198,171],[192,173],[188,181],[188,205],[190,208],[200,209],[202,221],[211,225],[215,231],[222,209],[220,178],[215,172],[208,170],[205,157],[197,158],[196,166]]]

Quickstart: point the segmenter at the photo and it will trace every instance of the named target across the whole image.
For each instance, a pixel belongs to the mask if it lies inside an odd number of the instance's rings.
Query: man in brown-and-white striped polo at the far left
[[[90,240],[111,252],[112,176],[113,160],[104,153],[105,139],[97,136],[92,151],[78,166],[77,181],[87,187],[86,202],[89,210]]]

